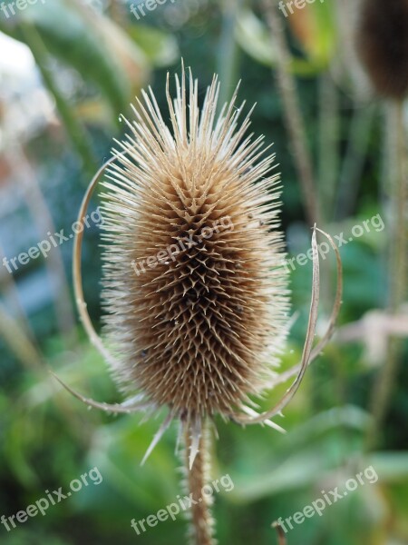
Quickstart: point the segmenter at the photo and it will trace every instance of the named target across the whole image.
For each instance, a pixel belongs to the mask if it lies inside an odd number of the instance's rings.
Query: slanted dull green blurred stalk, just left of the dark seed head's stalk
[[[335,202],[336,220],[342,220],[354,211],[370,144],[375,112],[375,106],[369,105],[356,109],[353,114]]]

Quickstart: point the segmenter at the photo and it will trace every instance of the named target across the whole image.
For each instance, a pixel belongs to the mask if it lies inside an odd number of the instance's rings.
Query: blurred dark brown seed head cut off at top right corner
[[[363,0],[356,39],[376,92],[403,98],[408,92],[408,0]]]

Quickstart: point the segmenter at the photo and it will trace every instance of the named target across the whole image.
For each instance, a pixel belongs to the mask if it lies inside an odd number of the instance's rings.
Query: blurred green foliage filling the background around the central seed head
[[[113,7],[119,9],[113,10]],[[112,136],[121,135],[119,114],[129,112],[133,94],[151,83],[164,107],[167,70],[180,72],[180,55],[199,76],[200,97],[219,66],[231,94],[242,78],[240,96],[249,104],[257,102],[253,130],[275,142],[277,163],[283,179],[283,223],[289,251],[306,252],[310,233],[303,223],[299,193],[290,146],[283,123],[282,108],[271,69],[277,52],[270,44],[267,25],[257,6],[247,3],[237,14],[234,43],[236,63],[228,66],[222,58],[226,39],[225,11],[215,2],[191,2],[160,6],[157,12],[136,21],[130,5],[102,4],[102,12],[90,12],[79,0],[53,0],[30,6],[12,21],[0,19],[0,30],[32,48],[44,84],[54,96],[63,121],[66,139],[53,142],[44,132],[27,144],[35,157],[44,198],[58,229],[68,228],[76,219],[87,175],[109,154]],[[118,15],[119,13],[119,15]],[[305,12],[306,17],[306,12]],[[303,16],[303,15],[302,15]],[[307,138],[314,155],[319,152],[318,117],[322,104],[317,94],[336,54],[336,17],[331,3],[311,4],[306,19],[293,23],[288,35],[298,79]],[[300,14],[299,14],[300,17]],[[304,35],[299,28],[314,30]],[[309,30],[310,30],[309,28]],[[316,32],[315,32],[316,31]],[[228,50],[231,54],[231,49]],[[3,52],[2,52],[3,54]],[[228,57],[229,58],[229,57]],[[170,68],[169,68],[170,66]],[[59,73],[66,68],[80,78],[72,94],[65,92]],[[219,74],[221,81],[224,74]],[[47,83],[48,82],[48,83]],[[336,135],[338,153],[343,156],[353,121],[353,96],[335,85],[341,119]],[[352,216],[337,223],[330,216],[330,233],[348,233],[351,227],[383,213],[378,180],[382,168],[381,120],[375,118],[370,133],[364,168],[358,180]],[[79,145],[79,142],[82,142]],[[88,170],[87,170],[88,169]],[[48,189],[48,181],[60,182]],[[355,182],[357,183],[357,181]],[[330,188],[329,188],[330,189]],[[335,192],[338,188],[333,188]],[[95,203],[96,205],[96,203]],[[386,233],[386,229],[385,229]],[[341,322],[354,322],[365,312],[384,305],[385,233],[367,233],[342,248],[345,267],[345,295]],[[86,234],[83,250],[84,290],[90,312],[98,322],[100,262],[98,233]],[[27,245],[28,247],[28,245]],[[70,278],[72,245],[62,248],[63,263]],[[20,276],[16,275],[17,283]],[[332,278],[333,256],[322,264],[322,274]],[[299,361],[310,297],[310,263],[298,266],[291,275],[293,310],[300,312],[282,370]],[[6,288],[6,286],[5,286]],[[327,312],[333,286],[324,286]],[[18,319],[17,323],[18,322]],[[0,339],[0,515],[10,516],[58,490],[84,471],[98,467],[103,481],[83,488],[72,498],[53,506],[46,516],[19,524],[6,532],[0,527],[5,545],[78,545],[82,543],[127,545],[170,545],[185,542],[182,517],[166,521],[137,536],[131,519],[156,513],[180,494],[180,461],[175,455],[177,430],[171,428],[141,468],[140,461],[160,424],[160,418],[141,422],[139,417],[113,417],[87,411],[61,391],[47,367],[78,391],[102,401],[118,401],[102,359],[89,346],[78,327],[74,345],[55,324],[51,305],[29,316],[34,329],[34,349],[41,353],[39,369],[27,368]],[[22,331],[24,325],[21,324]],[[30,336],[27,332],[27,339]],[[373,465],[379,480],[365,484],[330,508],[296,526],[287,538],[289,545],[403,545],[408,543],[408,383],[403,369],[393,406],[386,421],[381,451],[364,454],[364,435],[369,422],[367,403],[375,368],[365,357],[362,345],[333,342],[306,375],[301,390],[285,411],[288,433],[279,435],[267,428],[241,429],[218,421],[219,441],[215,446],[214,477],[228,473],[235,483],[231,492],[216,498],[215,517],[219,542],[234,545],[248,542],[267,545],[276,542],[271,522],[284,519],[310,504],[321,490],[334,489],[354,477],[360,468]],[[281,385],[263,401],[266,408],[277,400]],[[279,420],[280,423],[282,419]]]

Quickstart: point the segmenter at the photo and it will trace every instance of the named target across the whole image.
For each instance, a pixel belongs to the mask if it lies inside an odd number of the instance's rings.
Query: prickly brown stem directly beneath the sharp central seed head
[[[209,448],[210,434],[208,426],[204,426],[202,435],[199,438],[199,452],[194,460],[191,470],[189,469],[189,452],[192,446],[191,431],[186,426],[185,431],[185,464],[187,468],[187,485],[189,494],[193,500],[190,508],[191,526],[190,542],[192,545],[215,545],[213,539],[214,522],[211,517],[211,497],[206,497],[203,487],[209,482]],[[195,503],[196,502],[196,503]]]

